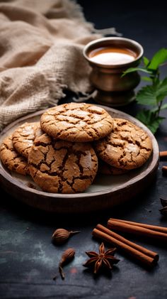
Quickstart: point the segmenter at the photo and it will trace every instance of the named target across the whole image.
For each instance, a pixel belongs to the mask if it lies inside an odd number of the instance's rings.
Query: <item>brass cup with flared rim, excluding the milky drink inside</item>
[[[91,60],[90,53],[93,50],[112,46],[129,49],[135,54],[135,59],[132,62],[119,65],[102,65]],[[115,107],[129,104],[135,99],[134,88],[140,82],[138,72],[131,72],[124,77],[121,76],[122,72],[129,67],[139,65],[143,53],[142,45],[129,38],[99,38],[84,47],[84,57],[92,67],[90,80],[97,89],[96,102]]]

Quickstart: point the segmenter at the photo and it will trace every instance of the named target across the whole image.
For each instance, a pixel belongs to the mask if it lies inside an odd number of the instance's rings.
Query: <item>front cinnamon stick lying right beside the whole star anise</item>
[[[101,232],[99,229],[93,229],[93,236],[108,241],[108,243],[114,244],[117,248],[127,252],[127,254],[134,257],[138,261],[141,261],[146,266],[154,266],[154,264],[156,263],[156,259],[153,259],[151,256],[143,254],[141,251],[134,249],[133,247],[123,243],[118,239],[115,239],[114,237],[111,237],[105,232]]]

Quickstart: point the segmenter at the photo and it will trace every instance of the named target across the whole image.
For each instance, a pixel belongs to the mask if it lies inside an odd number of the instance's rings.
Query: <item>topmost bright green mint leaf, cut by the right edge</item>
[[[149,63],[149,70],[157,70],[159,65],[161,65],[163,62],[167,61],[167,49],[162,48],[151,59],[151,62]]]

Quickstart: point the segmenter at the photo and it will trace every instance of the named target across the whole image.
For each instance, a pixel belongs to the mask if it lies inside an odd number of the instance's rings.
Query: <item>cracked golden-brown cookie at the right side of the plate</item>
[[[95,143],[97,155],[106,163],[122,169],[142,166],[151,156],[152,143],[146,132],[126,119],[114,119],[114,129]]]

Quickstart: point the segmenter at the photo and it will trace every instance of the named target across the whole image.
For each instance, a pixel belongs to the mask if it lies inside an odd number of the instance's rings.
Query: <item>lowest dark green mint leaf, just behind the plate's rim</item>
[[[142,110],[136,117],[139,121],[142,121],[142,123],[145,124],[153,134],[156,133],[157,129],[159,129],[159,125],[163,119],[165,119],[165,117],[155,116],[155,114],[150,110]]]

